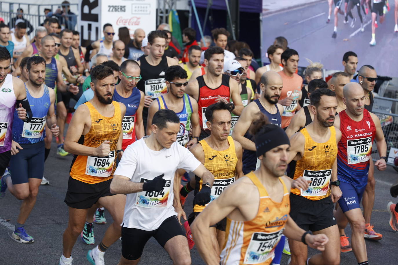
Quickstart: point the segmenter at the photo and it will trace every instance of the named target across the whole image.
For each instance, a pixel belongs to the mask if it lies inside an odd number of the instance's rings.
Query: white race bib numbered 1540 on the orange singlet
[[[275,247],[281,240],[282,233],[283,229],[273,233],[253,233],[243,263],[258,264],[272,259],[275,255]]]

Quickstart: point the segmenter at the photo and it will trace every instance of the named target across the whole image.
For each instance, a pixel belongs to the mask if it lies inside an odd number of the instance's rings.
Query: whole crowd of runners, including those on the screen
[[[356,5],[361,23],[361,7],[382,22],[384,0],[343,3],[335,1],[334,37],[344,8],[345,21]],[[311,62],[303,79],[284,37],[259,67],[224,28],[200,41],[184,29],[180,47],[168,24],[137,29],[133,40],[121,28],[117,41],[105,24],[105,37],[81,47],[79,32],[58,34],[57,20],[46,20],[31,43],[23,22],[14,32],[0,24],[0,198],[21,200],[13,240],[34,242],[25,223],[49,184],[56,141],[57,155],[73,155],[60,265],[72,264],[78,238],[96,244],[91,264],[105,264],[119,239],[119,264],[137,264],[151,237],[181,265],[194,246],[214,265],[280,264],[282,253],[290,265],[337,265],[350,251],[369,264],[365,238],[382,239],[371,213],[387,146],[372,113],[377,72],[355,52],[341,54],[342,71],[329,77]],[[113,222],[99,240],[105,209]],[[397,231],[398,205],[388,211]],[[307,246],[320,252],[308,257]]]

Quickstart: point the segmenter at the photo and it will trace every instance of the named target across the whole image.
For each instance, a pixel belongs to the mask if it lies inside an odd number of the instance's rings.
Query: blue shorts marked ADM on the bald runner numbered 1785
[[[361,208],[359,203],[361,202],[365,188],[366,185],[360,188],[355,188],[352,184],[340,182],[340,190],[342,194],[339,199],[339,205],[341,210],[343,210],[343,213],[352,209]]]

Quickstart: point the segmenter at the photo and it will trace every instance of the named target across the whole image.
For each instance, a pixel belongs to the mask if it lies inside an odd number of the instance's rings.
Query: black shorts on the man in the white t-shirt
[[[151,237],[164,248],[166,242],[174,236],[185,236],[177,217],[171,216],[164,220],[158,229],[152,231],[141,230],[137,228],[123,227],[122,224],[122,255],[125,259],[139,259],[144,250],[146,242]]]

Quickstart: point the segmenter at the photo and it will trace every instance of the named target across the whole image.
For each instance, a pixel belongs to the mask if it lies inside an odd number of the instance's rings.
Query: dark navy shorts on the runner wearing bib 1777
[[[12,184],[28,183],[29,178],[42,179],[44,174],[44,141],[21,144],[23,149],[11,156]]]

